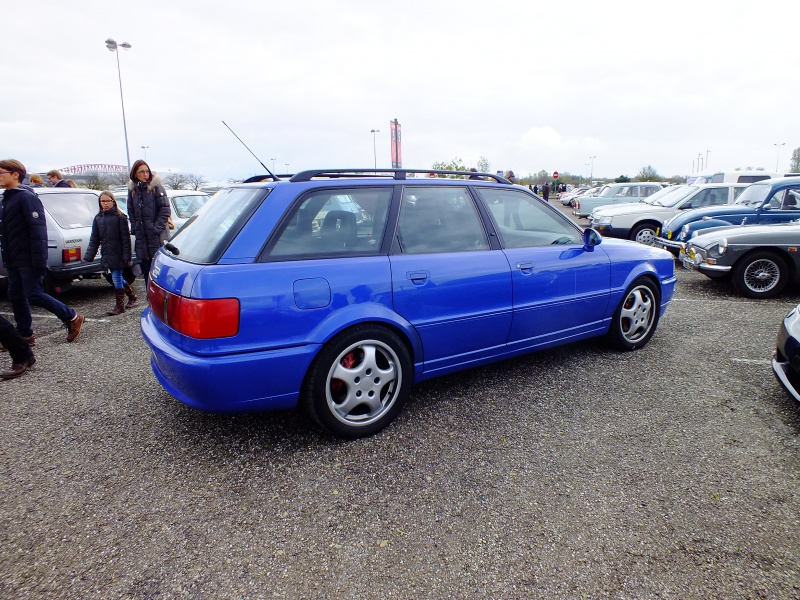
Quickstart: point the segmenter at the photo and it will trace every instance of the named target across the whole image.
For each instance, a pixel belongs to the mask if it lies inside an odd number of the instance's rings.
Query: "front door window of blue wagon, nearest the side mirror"
[[[479,188],[504,248],[583,244],[581,231],[542,202],[512,188]]]

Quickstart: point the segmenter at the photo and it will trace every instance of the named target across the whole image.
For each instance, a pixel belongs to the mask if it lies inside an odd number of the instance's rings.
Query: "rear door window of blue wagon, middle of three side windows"
[[[403,254],[489,249],[475,203],[461,187],[407,186],[397,236]]]

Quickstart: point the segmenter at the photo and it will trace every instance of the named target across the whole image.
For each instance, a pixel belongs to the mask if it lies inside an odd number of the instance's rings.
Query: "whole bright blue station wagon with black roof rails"
[[[141,327],[164,388],[213,412],[300,405],[356,438],[414,383],[594,336],[650,340],[674,292],[668,252],[604,240],[497,175],[414,173],[217,192],[153,261]]]

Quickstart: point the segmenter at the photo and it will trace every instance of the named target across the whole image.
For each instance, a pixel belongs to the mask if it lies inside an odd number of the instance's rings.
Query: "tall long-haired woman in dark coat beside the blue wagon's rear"
[[[158,249],[169,238],[169,198],[150,165],[139,159],[133,163],[128,182],[128,216],[136,236],[136,256],[142,261],[145,286],[150,265]]]

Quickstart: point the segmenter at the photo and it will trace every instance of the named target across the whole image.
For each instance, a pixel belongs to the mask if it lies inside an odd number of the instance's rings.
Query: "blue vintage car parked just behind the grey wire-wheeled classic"
[[[664,223],[656,245],[679,254],[696,232],[727,225],[769,225],[800,218],[800,177],[781,177],[753,183],[736,202],[680,213]]]

